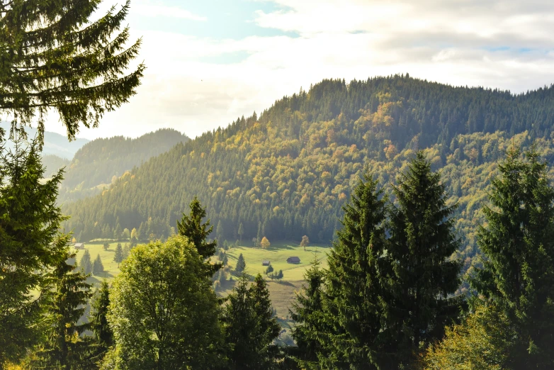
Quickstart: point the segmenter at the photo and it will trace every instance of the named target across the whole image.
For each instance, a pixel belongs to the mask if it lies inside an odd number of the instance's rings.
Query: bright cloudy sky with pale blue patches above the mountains
[[[513,93],[554,83],[554,1],[131,0],[127,21],[142,37],[142,85],[81,138],[194,138],[326,78],[409,73]],[[64,133],[53,115],[46,127]]]

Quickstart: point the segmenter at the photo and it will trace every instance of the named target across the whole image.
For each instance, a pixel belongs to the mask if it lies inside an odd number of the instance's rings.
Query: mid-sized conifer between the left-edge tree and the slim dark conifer
[[[75,254],[67,254],[68,259],[74,257]],[[76,270],[77,265],[62,261],[52,273],[55,291],[47,307],[51,325],[45,346],[32,357],[32,369],[77,369],[91,364],[90,342],[80,337],[90,325],[79,324],[91,286],[86,283],[86,275]]]

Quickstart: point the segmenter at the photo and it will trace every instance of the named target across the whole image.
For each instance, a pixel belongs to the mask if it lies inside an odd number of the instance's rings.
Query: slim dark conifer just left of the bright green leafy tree
[[[108,282],[103,280],[96,288],[91,303],[89,323],[94,332],[94,340],[100,353],[106,352],[113,345],[113,331],[108,325],[108,306],[110,305],[110,289]]]

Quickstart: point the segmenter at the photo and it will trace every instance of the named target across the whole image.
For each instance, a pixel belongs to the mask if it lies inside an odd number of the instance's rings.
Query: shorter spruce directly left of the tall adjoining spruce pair
[[[323,326],[323,291],[324,271],[320,268],[320,260],[314,255],[310,269],[304,273],[305,285],[300,292],[295,292],[293,308],[289,310],[295,325],[292,336],[298,346],[295,351],[295,361],[301,368],[319,369],[319,357],[323,348],[318,340],[318,333],[327,332]],[[319,335],[320,335],[319,334]]]

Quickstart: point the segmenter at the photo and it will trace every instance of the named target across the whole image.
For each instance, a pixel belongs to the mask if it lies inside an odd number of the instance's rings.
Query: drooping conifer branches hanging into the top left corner
[[[99,1],[42,4],[9,1],[1,5],[0,109],[16,123],[38,120],[40,138],[47,111],[53,108],[69,139],[79,124],[96,127],[135,94],[144,65],[124,75],[137,56],[140,40],[125,49],[129,30],[120,30],[129,1],[97,21],[91,15]],[[40,139],[42,141],[42,139]]]

